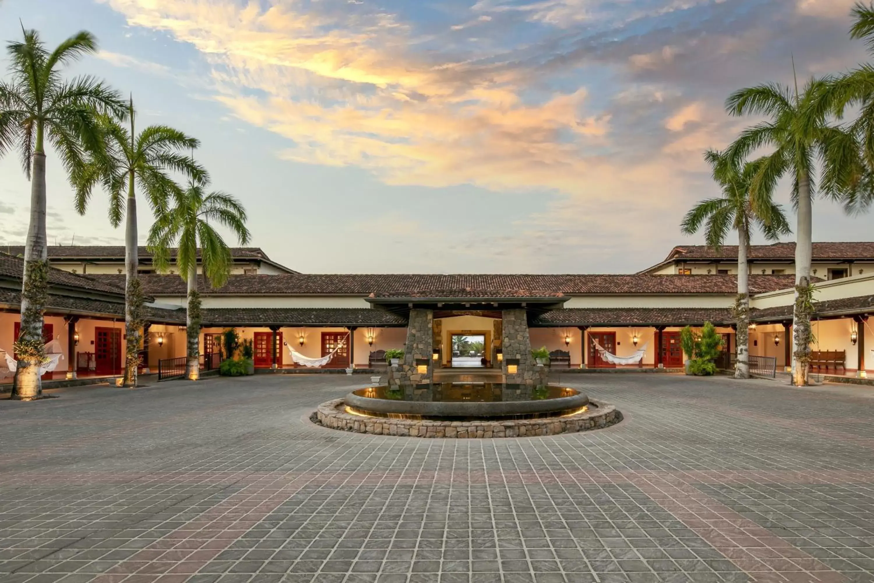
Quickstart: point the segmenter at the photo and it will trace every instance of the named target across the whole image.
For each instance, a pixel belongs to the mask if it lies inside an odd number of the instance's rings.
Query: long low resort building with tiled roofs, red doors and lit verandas
[[[856,246],[864,253],[834,257],[831,263],[821,257],[817,263],[832,267],[818,267],[827,272],[816,277],[815,364],[830,374],[864,375],[866,367],[874,369],[874,333],[868,324],[874,313],[874,268],[862,266],[872,261],[874,253],[867,250],[874,243],[825,245]],[[90,249],[89,260],[105,265]],[[258,268],[275,268],[266,257],[258,259]],[[726,257],[722,265],[729,264]],[[791,264],[780,265],[792,271]],[[848,270],[846,276],[826,279],[839,265]],[[295,359],[325,357],[319,368],[385,369],[385,350],[400,349],[406,350],[406,365],[425,367],[430,375],[454,365],[457,337],[481,338],[482,366],[506,371],[514,361],[520,375],[533,366],[530,348],[541,346],[551,352],[553,368],[617,366],[601,356],[601,347],[617,357],[642,353],[639,362],[627,366],[676,369],[685,359],[680,330],[711,322],[725,339],[719,365],[731,368],[736,276],[678,277],[669,274],[667,264],[662,267],[661,274],[552,275],[298,274],[286,269],[232,274],[218,289],[201,278],[201,354],[206,368],[214,366],[219,336],[234,328],[253,341],[258,369],[291,370],[301,368]],[[7,351],[17,330],[22,269],[22,260],[0,255],[0,349]],[[772,359],[780,370],[791,363],[794,276],[758,272],[757,267],[750,277],[750,350],[753,357]],[[45,337],[59,341],[65,358],[53,378],[119,374],[124,275],[95,274],[90,267],[86,274],[73,274],[54,267],[50,283]],[[142,283],[149,295],[142,369],[156,371],[159,361],[184,357],[186,288],[178,275],[143,274]]]

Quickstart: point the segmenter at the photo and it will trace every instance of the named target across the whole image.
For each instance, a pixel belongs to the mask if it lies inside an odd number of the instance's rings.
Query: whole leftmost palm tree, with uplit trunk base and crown
[[[15,350],[17,371],[12,396],[37,399],[42,393],[39,364],[43,348],[43,312],[48,278],[45,239],[45,142],[57,153],[73,180],[88,152],[103,148],[99,113],[124,116],[121,96],[94,77],[64,80],[60,69],[95,52],[90,32],[80,31],[48,52],[37,31],[23,31],[22,42],[7,45],[10,80],[0,81],[0,156],[18,149],[24,175],[31,181],[31,219],[24,246],[21,331]]]

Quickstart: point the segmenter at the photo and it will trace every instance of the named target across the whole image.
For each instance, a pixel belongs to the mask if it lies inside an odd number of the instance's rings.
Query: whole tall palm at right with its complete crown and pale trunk
[[[829,123],[829,111],[822,106],[822,95],[829,80],[811,79],[799,93],[797,82],[791,88],[766,84],[741,89],[726,101],[732,115],[764,115],[752,128],[746,128],[727,150],[732,160],[745,160],[756,149],[773,148],[760,158],[750,187],[753,201],[770,197],[780,177],[793,178],[792,200],[797,213],[795,233],[795,306],[793,315],[793,384],[808,384],[810,360],[810,316],[813,312],[810,286],[810,260],[813,251],[811,230],[813,198],[816,191],[817,161],[822,164],[819,191],[833,199],[846,200],[858,168],[858,143],[855,136]],[[848,162],[849,161],[849,162]]]

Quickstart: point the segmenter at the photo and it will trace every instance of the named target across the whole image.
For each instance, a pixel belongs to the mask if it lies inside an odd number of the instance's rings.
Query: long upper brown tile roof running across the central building
[[[123,285],[123,275],[93,275]],[[185,295],[185,282],[174,275],[141,276],[149,295]],[[791,288],[792,275],[752,275],[750,292],[759,294]],[[279,274],[232,275],[223,288],[212,289],[201,277],[202,293],[216,295],[355,295],[378,297],[535,297],[559,295],[639,295],[737,293],[733,275],[615,275],[615,274]],[[468,291],[469,290],[469,291]]]

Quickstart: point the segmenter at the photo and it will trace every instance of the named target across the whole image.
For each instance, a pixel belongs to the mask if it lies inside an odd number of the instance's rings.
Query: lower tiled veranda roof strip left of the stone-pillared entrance
[[[212,326],[406,326],[406,319],[375,308],[207,308]]]

